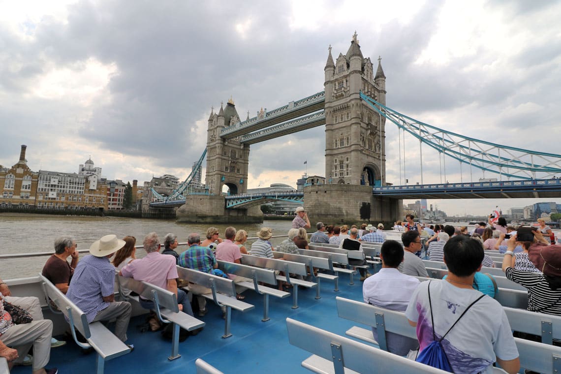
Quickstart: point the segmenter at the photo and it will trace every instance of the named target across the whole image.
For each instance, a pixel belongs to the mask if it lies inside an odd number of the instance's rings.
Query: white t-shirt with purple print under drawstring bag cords
[[[481,292],[454,287],[445,280],[422,282],[411,297],[405,315],[417,322],[421,352],[433,341],[433,326],[427,287],[433,306],[436,339],[444,335]],[[492,373],[496,357],[505,361],[518,357],[511,326],[503,307],[485,295],[473,304],[445,336],[442,346],[456,373]],[[496,354],[496,356],[495,356]]]

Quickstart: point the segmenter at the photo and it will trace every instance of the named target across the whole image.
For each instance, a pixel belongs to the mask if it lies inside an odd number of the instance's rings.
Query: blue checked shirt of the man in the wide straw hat
[[[103,297],[115,292],[114,284],[115,267],[109,258],[87,255],[78,262],[66,297],[85,313],[90,324],[98,312],[109,306]]]

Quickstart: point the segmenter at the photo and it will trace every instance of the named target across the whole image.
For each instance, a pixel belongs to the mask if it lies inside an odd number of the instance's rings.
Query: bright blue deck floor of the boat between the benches
[[[362,300],[362,282],[355,276],[355,284],[349,285],[348,276],[339,279],[339,292],[333,291],[333,282],[321,282],[321,299],[316,300],[315,289],[298,289],[298,306],[292,309],[292,297],[278,299],[270,297],[268,322],[263,317],[263,297],[247,290],[246,302],[255,309],[246,313],[232,311],[230,338],[222,339],[224,320],[220,308],[214,303],[207,304],[209,312],[200,317],[206,322],[203,331],[190,336],[179,345],[181,357],[168,361],[171,342],[163,340],[159,332],[140,333],[137,325],[145,321],[145,316],[132,318],[128,327],[128,341],[135,345],[129,354],[105,363],[105,373],[195,373],[195,360],[202,358],[224,373],[306,373],[301,362],[309,353],[288,343],[286,318],[320,327],[333,333],[344,335],[355,325],[337,316],[335,297],[341,296]],[[58,367],[59,373],[95,372],[95,353],[84,355],[69,342],[51,351],[49,367]],[[12,374],[30,373],[30,367],[15,367]]]

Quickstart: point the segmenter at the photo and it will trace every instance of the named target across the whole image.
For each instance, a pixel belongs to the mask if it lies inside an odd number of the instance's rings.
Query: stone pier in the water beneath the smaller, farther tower
[[[177,210],[177,222],[238,224],[261,223],[263,212],[260,205],[240,209],[226,209],[223,196],[187,195],[185,205]]]

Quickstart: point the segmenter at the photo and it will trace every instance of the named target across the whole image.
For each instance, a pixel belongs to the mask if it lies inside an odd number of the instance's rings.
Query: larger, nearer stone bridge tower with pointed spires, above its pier
[[[347,54],[325,64],[325,179],[333,184],[385,184],[385,118],[360,98],[360,92],[385,105],[380,58],[374,72],[357,34]]]

